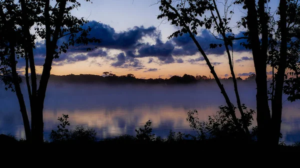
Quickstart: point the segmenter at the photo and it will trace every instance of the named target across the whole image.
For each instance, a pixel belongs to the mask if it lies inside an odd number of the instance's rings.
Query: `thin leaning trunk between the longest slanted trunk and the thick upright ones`
[[[211,12],[211,15],[213,17],[213,20],[215,22],[215,25],[220,29],[221,31],[221,35],[223,37],[223,40],[224,40],[224,45],[225,45],[225,48],[226,48],[226,53],[227,53],[227,56],[228,56],[228,63],[229,63],[229,68],[230,68],[230,73],[231,73],[231,76],[232,76],[232,80],[233,80],[233,86],[234,86],[234,93],[235,93],[235,97],[236,97],[236,103],[237,103],[237,108],[240,112],[240,115],[241,115],[241,119],[243,120],[243,129],[246,133],[247,136],[250,135],[249,133],[249,129],[247,127],[247,123],[246,121],[244,120],[245,118],[245,115],[243,113],[243,110],[241,108],[241,103],[240,103],[240,98],[239,98],[239,93],[238,93],[238,90],[237,90],[237,82],[236,82],[236,78],[235,78],[235,74],[234,74],[234,71],[233,71],[233,65],[232,65],[232,62],[231,62],[231,55],[230,55],[230,51],[229,51],[229,48],[228,48],[228,39],[225,35],[225,28],[223,25],[225,25],[221,19],[221,16],[219,14],[219,11],[217,9],[217,6],[216,6],[216,3],[215,3],[215,0],[213,0],[213,5],[214,5],[214,9],[216,11],[216,14],[217,14],[217,17],[218,17],[218,20],[219,20],[219,24],[217,23],[216,21],[216,17],[214,16],[211,8],[210,8],[210,12]]]

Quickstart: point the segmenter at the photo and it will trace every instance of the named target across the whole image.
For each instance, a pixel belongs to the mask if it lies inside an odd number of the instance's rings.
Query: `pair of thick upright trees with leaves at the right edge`
[[[270,14],[268,2],[269,0],[258,0],[256,5],[252,0],[237,1],[247,9],[247,16],[242,23],[248,28],[245,34],[249,37],[256,73],[258,138],[262,144],[277,145],[281,136],[282,90],[287,79],[285,71],[292,71],[292,74],[298,72],[299,57],[295,51],[299,50],[299,45],[294,44],[299,37],[295,33],[296,29],[299,30],[299,18],[296,15],[299,11],[299,2],[280,0],[277,17]],[[272,67],[271,114],[266,85],[267,64]],[[293,88],[296,85],[289,83],[291,80],[287,79],[286,83]],[[288,90],[286,88],[285,91],[288,93]]]

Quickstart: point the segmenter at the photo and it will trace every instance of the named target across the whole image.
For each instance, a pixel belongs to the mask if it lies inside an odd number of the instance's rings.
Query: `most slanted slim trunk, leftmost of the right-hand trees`
[[[180,19],[180,22],[183,23],[184,25],[184,28],[187,30],[190,38],[193,40],[193,42],[196,44],[198,50],[200,51],[200,53],[202,54],[202,56],[204,57],[205,61],[206,61],[206,64],[208,65],[209,69],[210,69],[210,73],[213,75],[218,87],[220,88],[221,90],[221,94],[223,95],[223,97],[225,98],[225,101],[226,101],[226,104],[230,110],[230,116],[232,117],[233,121],[234,121],[234,124],[235,125],[238,125],[238,121],[237,121],[237,118],[235,116],[235,112],[233,110],[233,106],[232,106],[232,103],[230,102],[229,100],[229,97],[224,89],[224,86],[221,84],[218,76],[216,75],[215,71],[214,71],[214,68],[213,66],[211,65],[210,61],[208,60],[205,52],[203,51],[203,49],[201,48],[200,44],[198,43],[198,41],[195,39],[193,33],[190,31],[189,27],[185,24],[184,22],[184,19],[181,17],[181,15],[178,13],[178,11],[171,5],[168,3],[168,7],[171,8],[175,14],[177,15],[177,17]]]

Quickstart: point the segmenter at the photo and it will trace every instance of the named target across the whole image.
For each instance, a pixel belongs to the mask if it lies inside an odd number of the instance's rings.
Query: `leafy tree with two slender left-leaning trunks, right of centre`
[[[167,18],[168,21],[170,21],[170,24],[176,25],[180,27],[180,30],[175,31],[172,33],[169,38],[177,37],[178,35],[181,36],[183,33],[188,33],[190,38],[193,40],[195,45],[197,46],[198,50],[200,51],[201,55],[203,56],[204,60],[206,61],[206,64],[208,65],[210,69],[210,73],[213,75],[218,87],[221,90],[221,93],[226,101],[226,104],[228,106],[228,112],[230,113],[234,123],[236,126],[238,126],[238,120],[235,116],[234,112],[234,106],[232,105],[231,101],[229,100],[229,97],[221,84],[217,74],[214,71],[214,67],[211,65],[207,55],[203,51],[202,47],[200,46],[199,42],[196,40],[195,36],[197,34],[198,26],[202,27],[204,26],[207,29],[214,29],[218,33],[221,34],[223,39],[221,39],[224,42],[224,46],[226,48],[226,53],[228,55],[228,63],[230,72],[232,75],[232,80],[234,83],[234,91],[236,95],[237,100],[237,106],[239,109],[239,112],[242,116],[242,119],[244,118],[244,113],[241,108],[241,103],[239,99],[239,94],[237,91],[237,83],[235,74],[233,72],[233,66],[231,62],[231,55],[229,52],[228,45],[232,47],[232,40],[235,39],[233,36],[227,37],[225,35],[226,31],[231,31],[229,27],[227,27],[228,21],[227,18],[222,18],[217,10],[217,6],[215,3],[215,0],[184,0],[184,1],[176,1],[176,6],[172,6],[172,0],[160,0],[160,6],[159,10],[161,11],[161,14],[157,16],[158,19],[160,18]],[[204,15],[205,11],[210,11],[211,16],[206,17]],[[214,11],[216,11],[216,15],[214,15]],[[201,20],[200,20],[200,19]],[[217,21],[218,19],[218,21]],[[217,46],[222,46],[222,44],[210,44],[210,48],[216,48]],[[245,120],[244,120],[245,121]],[[249,136],[249,130],[246,125],[246,123],[243,123],[242,129],[244,130],[245,134]]]

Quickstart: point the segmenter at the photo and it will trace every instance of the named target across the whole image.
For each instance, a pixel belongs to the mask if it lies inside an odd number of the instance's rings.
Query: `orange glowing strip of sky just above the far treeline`
[[[237,55],[237,54],[235,54]],[[240,53],[238,56],[250,56],[250,53]],[[148,58],[138,58],[144,65],[143,69],[134,70],[134,69],[126,69],[126,68],[118,68],[112,67],[107,60],[103,60],[102,58],[89,58],[86,61],[76,62],[73,64],[64,64],[63,66],[52,66],[51,74],[54,75],[69,75],[69,74],[94,74],[94,75],[102,75],[103,72],[111,72],[117,76],[133,74],[137,78],[169,78],[173,75],[182,76],[184,74],[189,75],[205,75],[207,77],[213,78],[212,74],[205,61],[201,61],[198,64],[190,64],[188,59],[197,58],[199,56],[191,56],[191,57],[182,57],[184,63],[171,63],[171,64],[162,64],[159,65],[156,63],[147,63]],[[221,62],[219,65],[214,66],[214,70],[216,71],[219,78],[225,78],[225,74],[230,75],[229,65],[227,63],[227,59],[225,56],[209,56],[211,62]],[[235,58],[238,59],[238,58]],[[239,73],[249,73],[255,72],[253,61],[245,61],[243,64],[234,62],[234,73],[235,76],[239,76]],[[149,68],[156,68],[157,71],[149,71],[144,72]],[[36,67],[36,71],[38,74],[42,72],[42,66]],[[246,78],[247,76],[240,76],[241,78]]]

